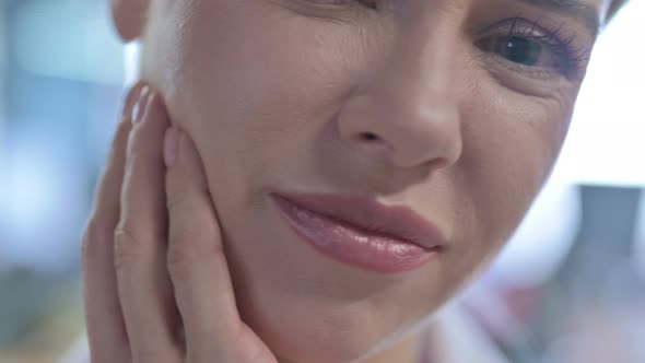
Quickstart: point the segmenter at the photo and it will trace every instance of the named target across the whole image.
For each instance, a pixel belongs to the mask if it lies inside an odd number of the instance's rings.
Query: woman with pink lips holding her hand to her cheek
[[[142,82],[84,235],[92,362],[443,362],[423,328],[544,183],[618,5],[113,0]]]

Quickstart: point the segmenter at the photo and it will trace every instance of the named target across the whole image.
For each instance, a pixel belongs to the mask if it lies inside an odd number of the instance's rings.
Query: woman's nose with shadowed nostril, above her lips
[[[457,26],[442,16],[402,23],[383,66],[344,104],[339,132],[359,152],[386,155],[398,167],[446,167],[462,142]]]

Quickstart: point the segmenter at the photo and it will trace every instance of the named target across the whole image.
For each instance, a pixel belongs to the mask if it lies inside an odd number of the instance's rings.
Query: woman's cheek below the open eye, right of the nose
[[[458,185],[473,229],[465,260],[492,258],[520,223],[549,176],[566,134],[573,99],[536,101],[476,91],[464,115]],[[491,95],[491,96],[486,96]],[[555,101],[558,99],[558,101]],[[472,264],[479,261],[479,264]]]

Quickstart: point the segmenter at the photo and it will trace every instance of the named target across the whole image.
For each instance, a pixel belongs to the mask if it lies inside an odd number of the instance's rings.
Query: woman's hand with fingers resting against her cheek
[[[241,320],[195,145],[149,90],[126,98],[83,235],[91,360],[277,363]]]

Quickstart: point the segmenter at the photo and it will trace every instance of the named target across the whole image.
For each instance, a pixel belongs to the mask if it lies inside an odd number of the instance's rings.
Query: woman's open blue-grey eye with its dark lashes
[[[511,17],[489,26],[476,45],[507,68],[536,78],[578,78],[588,61],[590,47],[576,44],[564,24],[549,30],[539,22]]]

